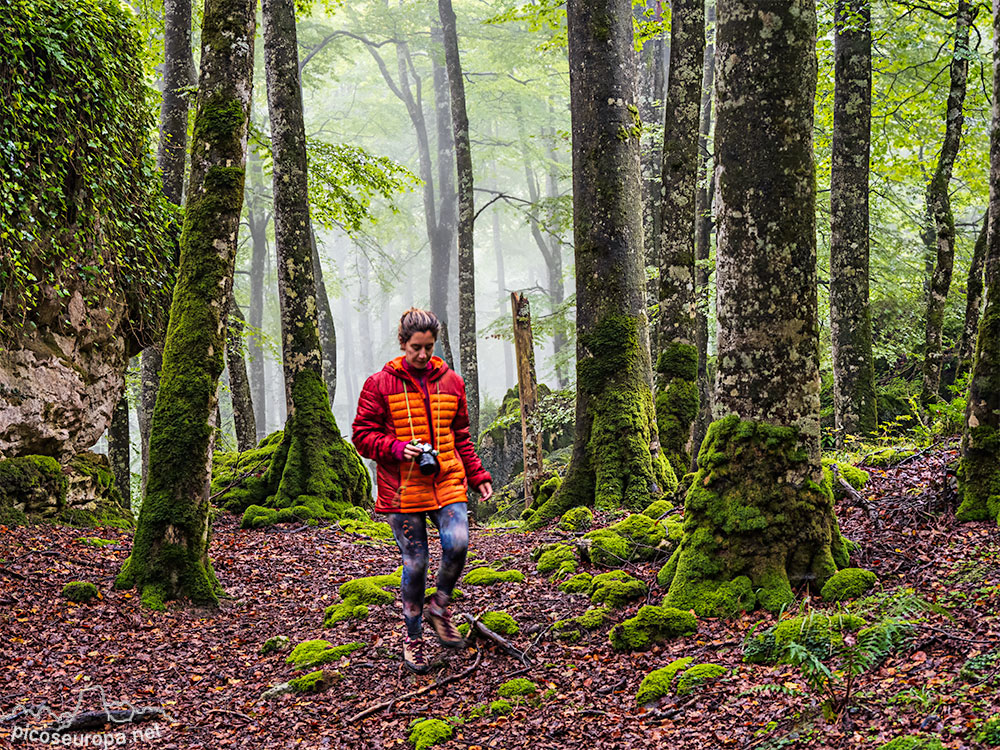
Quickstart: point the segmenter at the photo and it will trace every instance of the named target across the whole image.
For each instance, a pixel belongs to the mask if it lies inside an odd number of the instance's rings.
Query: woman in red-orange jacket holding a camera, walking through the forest
[[[448,602],[469,546],[466,493],[471,484],[483,500],[493,495],[489,472],[469,437],[465,382],[433,356],[440,330],[432,312],[403,313],[403,356],[365,381],[352,437],[358,452],[378,464],[375,510],[386,514],[403,555],[403,662],[418,674],[430,669],[422,636],[427,519],[441,538],[441,568],[427,619],[442,645],[459,648],[462,636]]]

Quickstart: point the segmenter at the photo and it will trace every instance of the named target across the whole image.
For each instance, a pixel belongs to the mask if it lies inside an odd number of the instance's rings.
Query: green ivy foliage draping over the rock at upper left
[[[157,179],[142,43],[113,0],[11,0],[0,21],[0,341],[79,281],[124,298],[131,333],[162,330],[173,209]]]

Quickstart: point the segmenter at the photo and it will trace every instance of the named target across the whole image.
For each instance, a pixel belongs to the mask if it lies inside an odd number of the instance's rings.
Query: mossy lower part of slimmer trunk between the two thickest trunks
[[[698,349],[667,346],[656,360],[656,385],[660,448],[675,476],[684,476],[691,465],[691,424],[698,416]]]

